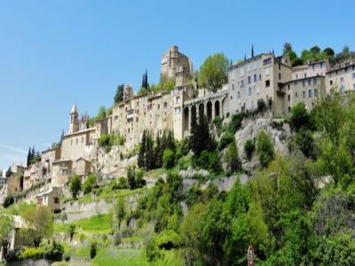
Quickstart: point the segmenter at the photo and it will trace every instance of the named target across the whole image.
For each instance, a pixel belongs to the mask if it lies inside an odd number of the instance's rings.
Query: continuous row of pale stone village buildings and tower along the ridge
[[[130,152],[141,141],[143,131],[155,138],[164,130],[173,130],[174,137],[188,137],[191,122],[205,115],[209,123],[217,117],[250,112],[257,102],[264,100],[270,114],[285,115],[292,106],[303,102],[308,110],[332,90],[355,90],[355,62],[330,68],[327,60],[292,67],[288,56],[275,57],[273,52],[261,53],[228,69],[228,82],[212,93],[189,82],[193,75],[191,59],[173,45],[162,56],[162,80],[171,80],[170,91],[135,95],[131,86],[125,86],[123,101],[113,106],[113,113],[89,127],[88,117],[79,118],[74,105],[68,113],[67,134],[58,146],[42,153],[42,160],[27,168],[14,166],[7,178],[0,198],[17,195],[40,181],[51,181],[49,190],[37,196],[36,203],[44,204],[45,197],[54,195],[52,188],[66,186],[74,173],[85,176],[95,171],[99,137],[119,135],[124,138],[125,152]],[[58,193],[51,198],[58,203]],[[42,200],[41,200],[42,199]],[[52,209],[59,207],[48,201]]]

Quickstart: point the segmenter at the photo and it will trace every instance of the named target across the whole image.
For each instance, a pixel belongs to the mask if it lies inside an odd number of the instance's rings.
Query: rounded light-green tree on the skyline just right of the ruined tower
[[[209,56],[200,67],[199,85],[214,92],[221,89],[227,79],[228,66],[228,59],[223,53]]]

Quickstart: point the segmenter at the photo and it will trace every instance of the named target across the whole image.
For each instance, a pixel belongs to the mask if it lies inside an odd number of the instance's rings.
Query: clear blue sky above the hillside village
[[[0,0],[0,168],[24,162],[67,130],[74,102],[91,115],[115,87],[156,83],[162,53],[177,44],[199,67],[210,54],[355,49],[353,1]]]

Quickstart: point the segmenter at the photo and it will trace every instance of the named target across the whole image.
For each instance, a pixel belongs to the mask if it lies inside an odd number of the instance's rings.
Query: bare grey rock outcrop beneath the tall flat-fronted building
[[[258,158],[254,153],[252,159],[248,161],[244,152],[244,144],[248,139],[256,139],[257,134],[262,129],[271,137],[276,153],[283,155],[288,154],[287,140],[291,135],[291,131],[287,123],[283,123],[282,120],[263,117],[246,119],[242,122],[241,129],[235,133],[235,141],[237,143],[242,167],[249,173],[255,171],[258,165]]]

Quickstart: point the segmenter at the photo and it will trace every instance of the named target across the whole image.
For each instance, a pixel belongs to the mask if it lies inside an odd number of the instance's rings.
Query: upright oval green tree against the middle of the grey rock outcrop
[[[256,137],[256,153],[263,168],[267,167],[275,156],[272,141],[264,130]]]

